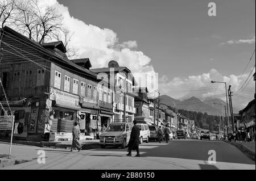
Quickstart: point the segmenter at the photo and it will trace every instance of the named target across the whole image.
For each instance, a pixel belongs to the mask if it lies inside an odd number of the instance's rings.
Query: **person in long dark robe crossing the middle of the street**
[[[130,140],[128,143],[128,154],[126,154],[127,156],[131,156],[131,151],[132,150],[136,150],[137,151],[137,155],[135,155],[135,157],[139,157],[139,127],[137,127],[137,120],[133,121],[133,128],[131,129],[131,135],[130,135]]]

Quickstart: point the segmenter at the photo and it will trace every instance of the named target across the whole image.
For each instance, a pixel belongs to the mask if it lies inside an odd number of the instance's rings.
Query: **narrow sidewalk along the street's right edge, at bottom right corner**
[[[240,142],[240,141],[236,141],[236,142],[225,141],[225,142],[228,142],[229,144],[236,146],[243,153],[245,153],[247,157],[255,161],[255,142]]]

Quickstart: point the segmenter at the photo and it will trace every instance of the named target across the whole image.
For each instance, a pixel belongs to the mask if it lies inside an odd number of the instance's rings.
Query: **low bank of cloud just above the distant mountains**
[[[253,72],[255,72],[255,68]],[[185,99],[191,96],[204,99],[205,97],[212,96],[213,98],[226,100],[224,83],[210,83],[210,81],[226,82],[227,87],[231,85],[231,90],[237,92],[246,81],[248,75],[249,73],[224,76],[216,69],[211,69],[209,73],[192,75],[187,78],[175,77],[172,80],[167,79],[166,75],[164,75],[159,79],[159,90],[161,94],[167,94],[175,99]],[[239,106],[241,106],[241,103],[237,102],[238,99],[240,102],[243,102],[242,106],[244,107],[246,103],[253,99],[255,82],[251,80],[245,90],[240,95],[234,96],[235,104],[240,104]],[[248,99],[241,97],[241,95],[245,95]]]

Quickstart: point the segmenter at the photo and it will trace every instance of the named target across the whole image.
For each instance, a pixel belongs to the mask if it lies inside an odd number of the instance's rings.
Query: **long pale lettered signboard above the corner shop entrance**
[[[69,94],[60,90],[51,88],[50,92],[51,100],[55,100],[57,104],[68,105],[68,106],[78,106],[79,105],[79,96]]]

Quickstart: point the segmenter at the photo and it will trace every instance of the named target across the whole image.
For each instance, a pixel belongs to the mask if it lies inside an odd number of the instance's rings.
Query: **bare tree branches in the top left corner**
[[[0,1],[0,23],[1,28],[8,22],[13,15],[15,8],[15,0],[2,0]]]

